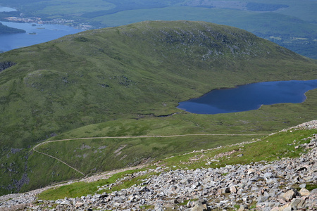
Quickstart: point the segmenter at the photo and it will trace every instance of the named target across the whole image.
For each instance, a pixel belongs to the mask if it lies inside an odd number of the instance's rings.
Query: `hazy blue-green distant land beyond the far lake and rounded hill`
[[[144,20],[195,20],[230,25],[317,58],[317,2],[310,0],[0,0],[18,11],[0,18],[41,18],[49,23],[93,28]],[[5,20],[5,19],[1,19]]]

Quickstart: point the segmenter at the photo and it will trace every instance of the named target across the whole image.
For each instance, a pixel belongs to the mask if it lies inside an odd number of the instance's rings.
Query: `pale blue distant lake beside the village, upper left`
[[[12,23],[3,21],[0,21],[0,23],[8,27],[26,31],[26,33],[18,34],[0,34],[0,51],[10,51],[25,46],[32,46],[83,31],[66,25],[42,25],[37,23]]]

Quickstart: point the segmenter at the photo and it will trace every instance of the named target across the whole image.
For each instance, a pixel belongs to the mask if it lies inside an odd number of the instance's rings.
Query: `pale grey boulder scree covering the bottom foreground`
[[[317,120],[285,131],[302,128],[316,129]],[[123,179],[156,173],[140,185],[111,194],[38,200],[37,193],[49,188],[46,187],[1,196],[0,210],[237,210],[234,205],[240,205],[239,210],[317,210],[317,188],[306,189],[306,184],[317,184],[317,134],[309,139],[310,143],[294,144],[294,148],[310,149],[300,158],[227,165],[217,169],[166,170],[165,167],[157,167],[127,175]],[[86,180],[104,179],[108,175],[100,174]],[[120,184],[120,181],[101,186],[99,190],[102,192]]]

